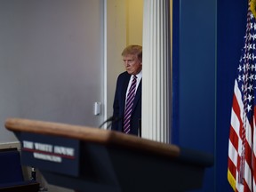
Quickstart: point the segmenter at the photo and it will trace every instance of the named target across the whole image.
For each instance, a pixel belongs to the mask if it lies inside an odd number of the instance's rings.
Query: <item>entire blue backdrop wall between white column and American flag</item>
[[[196,191],[232,191],[228,136],[246,12],[246,0],[173,0],[172,143],[215,156]]]

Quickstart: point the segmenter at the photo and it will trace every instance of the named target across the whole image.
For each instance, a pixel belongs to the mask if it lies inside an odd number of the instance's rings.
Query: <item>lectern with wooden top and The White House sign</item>
[[[76,191],[187,191],[201,188],[212,155],[122,132],[10,118],[21,163]]]

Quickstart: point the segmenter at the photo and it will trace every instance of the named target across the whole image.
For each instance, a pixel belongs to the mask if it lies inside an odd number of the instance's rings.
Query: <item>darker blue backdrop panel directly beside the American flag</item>
[[[228,137],[236,71],[244,46],[247,0],[218,1],[216,191],[232,191],[228,181]]]

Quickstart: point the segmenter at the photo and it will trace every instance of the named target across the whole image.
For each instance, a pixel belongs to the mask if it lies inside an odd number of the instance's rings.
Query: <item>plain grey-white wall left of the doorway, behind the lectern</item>
[[[103,0],[0,1],[0,143],[15,116],[99,126]]]

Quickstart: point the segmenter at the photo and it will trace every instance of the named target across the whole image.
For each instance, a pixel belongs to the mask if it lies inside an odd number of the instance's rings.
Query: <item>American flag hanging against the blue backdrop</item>
[[[235,191],[256,192],[256,22],[250,4],[244,48],[237,68],[228,143],[228,182]]]

